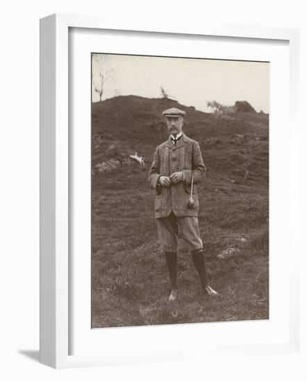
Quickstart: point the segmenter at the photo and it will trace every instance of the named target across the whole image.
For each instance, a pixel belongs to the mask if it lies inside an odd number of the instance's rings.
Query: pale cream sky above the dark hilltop
[[[92,78],[97,85],[101,70],[109,75],[102,99],[130,94],[160,98],[162,86],[171,98],[197,110],[210,111],[207,101],[227,106],[248,101],[256,111],[269,113],[269,63],[95,54]],[[99,101],[94,86],[92,101]]]

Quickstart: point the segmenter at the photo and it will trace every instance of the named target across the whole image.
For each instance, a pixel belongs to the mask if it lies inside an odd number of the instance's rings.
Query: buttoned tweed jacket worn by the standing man
[[[183,171],[185,181],[172,184],[169,187],[159,186],[160,176],[170,176],[173,172]],[[191,192],[192,173],[194,176],[193,199],[194,207],[188,208]],[[155,217],[167,217],[172,211],[178,217],[197,216],[199,199],[197,187],[206,175],[206,167],[201,156],[199,143],[183,133],[182,138],[174,146],[169,139],[157,147],[154,161],[149,170],[149,185],[156,190]]]

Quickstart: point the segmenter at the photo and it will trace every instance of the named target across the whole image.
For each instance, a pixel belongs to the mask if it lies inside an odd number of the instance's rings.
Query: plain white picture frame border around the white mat
[[[173,24],[174,25],[174,24]],[[157,349],[133,349],[131,354],[87,351],[72,355],[69,349],[70,301],[69,277],[69,28],[88,28],[144,32],[169,35],[215,36],[244,39],[285,40],[290,56],[290,193],[289,208],[292,261],[289,268],[290,308],[289,340],[265,344],[217,346],[194,351],[181,347],[169,356]],[[125,32],[126,31],[126,32]],[[124,39],[123,39],[124,43]],[[155,22],[144,26],[140,21],[116,25],[99,17],[82,15],[51,15],[40,21],[40,362],[51,367],[81,367],[178,360],[231,354],[272,354],[299,349],[299,125],[297,122],[299,85],[299,31],[283,28],[249,26],[172,26]],[[289,201],[290,203],[290,201]],[[240,325],[240,323],[239,323]],[[130,329],[132,330],[132,329]],[[146,328],[140,329],[142,333]],[[167,328],[163,329],[167,331]],[[117,332],[118,333],[118,332]],[[112,337],[112,333],[110,334]],[[133,344],[131,344],[133,347]],[[162,345],[161,345],[162,347]],[[162,349],[161,349],[162,350]]]

